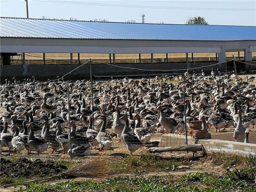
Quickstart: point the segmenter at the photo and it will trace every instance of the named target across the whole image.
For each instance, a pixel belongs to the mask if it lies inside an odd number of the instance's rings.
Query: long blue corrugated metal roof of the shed
[[[0,17],[0,37],[255,41],[256,27],[111,23]]]

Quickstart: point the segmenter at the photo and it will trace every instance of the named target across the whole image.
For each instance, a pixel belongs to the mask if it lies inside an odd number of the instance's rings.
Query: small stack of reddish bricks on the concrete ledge
[[[204,139],[207,134],[207,130],[202,130],[202,121],[192,121],[189,124],[188,133],[191,134],[193,139]]]

